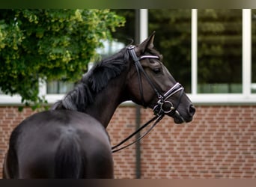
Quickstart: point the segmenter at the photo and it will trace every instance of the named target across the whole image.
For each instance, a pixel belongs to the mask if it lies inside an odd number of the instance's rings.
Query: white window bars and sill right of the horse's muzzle
[[[197,93],[198,86],[198,10],[192,9],[192,93],[198,104],[256,104],[252,86],[252,10],[243,9],[243,91],[242,93]]]

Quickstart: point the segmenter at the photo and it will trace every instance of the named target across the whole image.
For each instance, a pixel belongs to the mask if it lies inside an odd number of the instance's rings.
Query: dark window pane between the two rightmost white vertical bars
[[[242,10],[198,10],[198,93],[242,93]]]

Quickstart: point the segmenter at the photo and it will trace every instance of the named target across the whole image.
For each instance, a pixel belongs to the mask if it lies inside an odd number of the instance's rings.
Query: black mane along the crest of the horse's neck
[[[128,59],[129,52],[124,48],[115,55],[97,62],[82,76],[73,91],[67,93],[64,99],[55,102],[51,109],[85,111],[85,108],[94,102],[96,94],[106,88],[109,80],[119,76],[127,68]]]

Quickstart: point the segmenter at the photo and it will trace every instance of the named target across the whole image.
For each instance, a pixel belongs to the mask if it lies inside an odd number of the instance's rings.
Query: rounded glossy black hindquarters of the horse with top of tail
[[[10,178],[113,176],[106,129],[77,111],[43,111],[23,120],[10,136],[6,165]]]

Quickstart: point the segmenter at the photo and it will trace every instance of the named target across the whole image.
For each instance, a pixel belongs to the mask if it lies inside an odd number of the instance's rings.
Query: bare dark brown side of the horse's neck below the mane
[[[105,128],[108,126],[118,105],[127,100],[124,94],[126,74],[121,73],[118,78],[109,81],[106,88],[97,93],[95,102],[88,105],[85,109],[86,114],[100,121]]]

